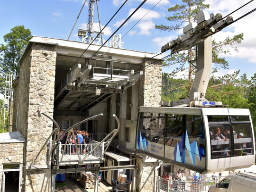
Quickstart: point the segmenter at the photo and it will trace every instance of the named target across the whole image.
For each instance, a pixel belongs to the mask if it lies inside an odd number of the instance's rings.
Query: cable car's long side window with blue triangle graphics
[[[192,166],[205,167],[201,116],[140,113],[137,149]]]

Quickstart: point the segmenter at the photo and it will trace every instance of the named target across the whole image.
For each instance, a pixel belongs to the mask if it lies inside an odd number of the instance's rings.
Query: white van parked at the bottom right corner
[[[256,192],[256,173],[228,175],[210,186],[208,192]]]

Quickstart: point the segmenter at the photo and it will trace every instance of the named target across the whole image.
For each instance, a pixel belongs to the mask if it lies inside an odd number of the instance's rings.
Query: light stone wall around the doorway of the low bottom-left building
[[[22,173],[23,152],[24,152],[24,143],[23,142],[0,143],[0,156],[1,156],[1,158],[0,158],[0,184],[2,181],[3,164],[21,164],[21,173]],[[24,189],[24,185],[21,185],[20,187],[21,187],[21,191],[22,191]],[[2,189],[0,189],[0,191],[2,191]]]

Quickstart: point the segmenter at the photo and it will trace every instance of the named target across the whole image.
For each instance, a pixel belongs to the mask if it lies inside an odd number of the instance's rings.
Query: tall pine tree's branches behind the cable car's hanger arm
[[[174,5],[171,8],[168,8],[168,11],[171,13],[171,16],[166,17],[168,21],[171,22],[170,26],[165,25],[155,25],[156,29],[160,31],[178,31],[183,28],[184,25],[187,25],[192,22],[196,22],[196,17],[198,12],[201,9],[207,9],[210,7],[209,4],[204,4],[205,0],[182,0],[182,4]],[[182,36],[182,35],[179,35]],[[224,55],[230,54],[229,49],[231,47],[235,51],[238,51],[236,44],[241,43],[243,40],[244,34],[238,34],[234,37],[227,37],[224,41],[216,42],[212,41],[212,63],[214,64],[212,71],[217,72],[220,68],[228,69],[229,63],[225,59]],[[171,40],[170,40],[171,41]],[[188,61],[194,60],[196,57],[195,49],[183,51],[177,54],[172,55],[170,58],[166,59],[163,67],[169,67],[174,64],[179,64],[176,69],[170,73],[170,75],[175,76],[176,73],[184,70],[189,70],[189,84],[192,84],[192,75],[195,74],[196,67],[194,67]],[[187,66],[189,64],[189,67]],[[190,88],[189,88],[190,90]],[[188,92],[189,93],[189,92]]]

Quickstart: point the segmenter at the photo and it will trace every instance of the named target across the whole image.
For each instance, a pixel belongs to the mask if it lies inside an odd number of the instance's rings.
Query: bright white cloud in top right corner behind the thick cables
[[[241,0],[233,0],[232,3],[230,3],[229,0],[206,0],[205,3],[210,4],[210,9],[208,10],[209,13],[221,13],[223,17],[228,15],[229,13],[233,12],[237,8],[244,5],[246,2]],[[235,19],[238,17],[243,16],[250,10],[256,7],[256,2],[251,2],[244,8],[241,8],[237,12],[231,14],[231,16]],[[256,54],[254,51],[256,51],[256,45],[254,42],[256,42],[256,25],[255,24],[255,17],[256,12],[240,19],[239,21],[229,25],[225,30],[228,30],[227,32],[219,32],[212,36],[213,39],[215,39],[217,42],[224,40],[226,37],[233,37],[234,35],[244,33],[244,40],[240,43],[235,45],[238,48],[239,52],[235,52],[231,47],[229,47],[230,55],[225,55],[225,57],[232,57],[232,58],[244,58],[247,59],[248,62],[256,63]]]

